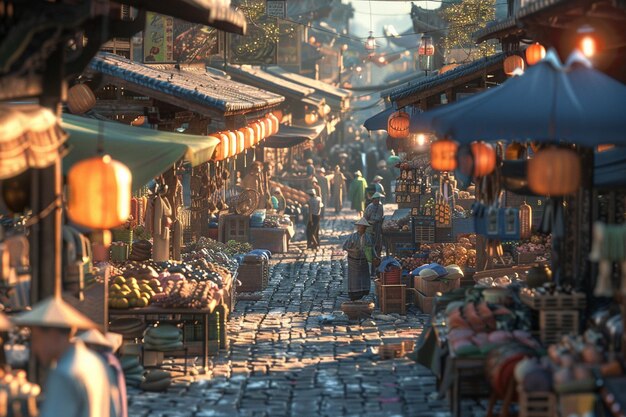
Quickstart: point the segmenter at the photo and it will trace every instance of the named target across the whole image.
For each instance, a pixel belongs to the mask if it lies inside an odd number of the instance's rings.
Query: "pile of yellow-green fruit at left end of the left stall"
[[[161,282],[156,278],[148,281],[118,275],[109,286],[109,307],[119,309],[147,307],[150,300],[161,292],[163,292]]]

